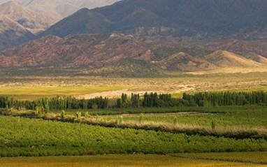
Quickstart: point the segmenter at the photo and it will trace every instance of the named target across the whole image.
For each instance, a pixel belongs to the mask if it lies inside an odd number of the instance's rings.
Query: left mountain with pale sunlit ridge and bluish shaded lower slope
[[[48,17],[10,1],[0,5],[0,49],[36,38],[59,19]]]

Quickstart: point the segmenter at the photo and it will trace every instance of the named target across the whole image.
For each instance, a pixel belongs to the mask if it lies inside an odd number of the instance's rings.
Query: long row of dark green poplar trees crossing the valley
[[[200,92],[182,94],[182,99],[172,98],[171,94],[145,93],[142,98],[139,94],[122,94],[114,105],[108,98],[75,99],[72,96],[55,96],[36,99],[35,101],[21,101],[8,96],[0,96],[0,108],[41,110],[73,110],[73,109],[105,109],[105,108],[152,108],[174,106],[243,106],[246,104],[267,104],[266,92]],[[38,109],[37,109],[38,108]]]

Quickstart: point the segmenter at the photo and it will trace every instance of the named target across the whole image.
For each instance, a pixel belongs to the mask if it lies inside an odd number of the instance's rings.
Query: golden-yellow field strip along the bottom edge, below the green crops
[[[96,155],[82,157],[17,157],[0,158],[0,166],[266,166],[229,161],[186,159],[164,155]]]

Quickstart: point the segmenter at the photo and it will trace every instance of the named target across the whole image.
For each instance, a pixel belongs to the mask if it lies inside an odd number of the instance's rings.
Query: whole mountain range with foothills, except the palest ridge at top
[[[92,2],[76,1],[78,8]],[[60,21],[29,10],[53,4],[48,2],[0,5],[0,49],[6,48],[0,67],[83,68],[90,75],[121,76],[267,71],[264,0],[114,0]]]

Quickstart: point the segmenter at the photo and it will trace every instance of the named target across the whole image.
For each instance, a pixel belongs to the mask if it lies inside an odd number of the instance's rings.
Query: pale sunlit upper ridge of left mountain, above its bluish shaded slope
[[[14,1],[1,4],[0,15],[9,17],[34,34],[38,33],[38,31],[44,31],[45,29],[48,29],[52,24],[55,24],[59,21],[59,19],[54,17],[48,17],[48,15],[36,13],[32,10],[24,8]]]

